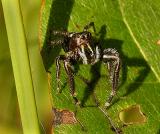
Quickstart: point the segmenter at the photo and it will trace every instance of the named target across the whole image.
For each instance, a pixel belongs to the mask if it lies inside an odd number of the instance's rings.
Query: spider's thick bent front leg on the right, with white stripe
[[[110,81],[112,84],[112,91],[110,93],[110,96],[108,97],[107,102],[105,103],[105,106],[108,107],[111,104],[111,101],[115,96],[116,90],[118,87],[121,61],[120,61],[119,53],[112,48],[108,48],[103,51],[103,61],[104,63],[107,64],[109,75],[110,75]]]

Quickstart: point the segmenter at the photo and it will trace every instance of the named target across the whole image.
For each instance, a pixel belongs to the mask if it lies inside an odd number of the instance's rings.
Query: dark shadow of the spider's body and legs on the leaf
[[[121,66],[122,68],[121,68],[121,80],[120,80],[119,88],[121,88],[126,83],[127,76],[128,76],[128,66],[129,67],[143,67],[143,69],[141,69],[137,73],[137,75],[135,73],[134,82],[127,85],[126,92],[121,96],[121,97],[125,97],[133,93],[134,91],[136,91],[143,84],[143,81],[145,80],[145,78],[148,76],[150,72],[150,67],[147,64],[147,62],[142,58],[129,58],[128,56],[126,56],[124,52],[122,51],[123,41],[117,40],[117,39],[105,39],[106,33],[107,33],[106,25],[103,25],[99,32],[100,34],[100,38],[98,39],[99,45],[102,48],[102,50],[104,50],[105,48],[115,48],[120,54],[120,58],[122,61],[122,66]],[[89,81],[89,83],[87,84],[85,88],[84,97],[81,100],[82,106],[85,105],[86,101],[91,95],[95,96],[94,89],[101,77],[100,68],[101,68],[101,62],[91,67],[91,70],[90,70],[91,80]],[[118,102],[119,100],[120,98],[116,100],[114,99],[111,105]],[[95,102],[97,103],[98,100],[96,100]],[[88,107],[88,106],[85,105],[85,107]]]

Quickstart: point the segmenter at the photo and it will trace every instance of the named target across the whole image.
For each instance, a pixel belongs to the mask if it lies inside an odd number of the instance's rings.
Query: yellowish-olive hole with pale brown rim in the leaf
[[[125,125],[142,124],[147,121],[146,116],[141,111],[140,105],[132,105],[119,112],[119,119]]]

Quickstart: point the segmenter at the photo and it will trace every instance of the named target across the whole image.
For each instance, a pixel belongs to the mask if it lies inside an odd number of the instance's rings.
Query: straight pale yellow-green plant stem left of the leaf
[[[19,0],[2,0],[24,134],[39,134],[32,73]],[[3,44],[5,45],[5,44]]]

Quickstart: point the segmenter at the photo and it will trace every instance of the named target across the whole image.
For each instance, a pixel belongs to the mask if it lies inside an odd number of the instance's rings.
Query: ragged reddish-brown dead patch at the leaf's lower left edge
[[[77,123],[75,114],[69,110],[59,110],[53,108],[53,114],[54,114],[53,125]]]

